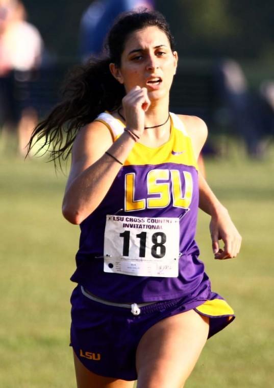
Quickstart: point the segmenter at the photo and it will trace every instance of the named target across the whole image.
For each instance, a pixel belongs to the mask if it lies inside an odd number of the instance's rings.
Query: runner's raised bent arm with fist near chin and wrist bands
[[[144,109],[149,103],[146,90],[139,87],[123,99],[127,123],[139,136],[144,128]],[[123,163],[133,146],[134,140],[127,132],[113,143],[109,130],[99,122],[81,129],[73,144],[62,204],[63,215],[69,222],[81,223],[98,207],[112,185],[121,165],[105,152]]]

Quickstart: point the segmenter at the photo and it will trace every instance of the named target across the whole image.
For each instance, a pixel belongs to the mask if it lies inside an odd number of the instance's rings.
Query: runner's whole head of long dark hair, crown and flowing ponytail
[[[119,67],[128,36],[151,26],[166,34],[171,50],[174,50],[169,26],[160,12],[140,10],[121,14],[108,34],[107,56],[91,58],[86,64],[72,69],[62,87],[62,101],[35,127],[28,153],[42,140],[40,150],[49,150],[51,160],[65,160],[80,128],[92,122],[99,113],[120,106],[124,87],[110,73],[109,64],[115,63]]]

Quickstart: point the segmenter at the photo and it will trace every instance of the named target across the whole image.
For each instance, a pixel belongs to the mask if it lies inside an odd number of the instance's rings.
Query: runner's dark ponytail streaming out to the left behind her
[[[60,163],[67,159],[80,128],[99,113],[119,107],[124,88],[110,73],[109,64],[110,59],[93,58],[70,71],[62,87],[62,101],[34,128],[28,154],[42,141],[38,152],[45,149],[51,160]]]

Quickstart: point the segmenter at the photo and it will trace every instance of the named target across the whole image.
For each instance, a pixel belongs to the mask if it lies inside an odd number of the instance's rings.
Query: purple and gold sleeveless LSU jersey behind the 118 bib
[[[169,140],[157,148],[135,143],[101,204],[80,225],[77,269],[71,280],[109,301],[140,303],[168,300],[189,295],[201,285],[205,295],[210,289],[204,264],[198,260],[199,251],[194,240],[198,210],[197,163],[183,123],[173,113],[170,113],[170,118]],[[96,120],[109,128],[114,141],[123,133],[122,122],[109,113],[102,113]],[[179,276],[147,277],[105,272],[107,215],[115,216],[125,228],[140,227],[140,234],[137,235],[140,242],[144,227],[153,229],[153,232],[155,230],[157,234],[161,229],[160,222],[177,218]],[[145,226],[139,224],[140,219],[146,217],[157,218],[159,223],[155,220]],[[122,241],[126,241],[126,237],[126,234],[118,235]],[[160,251],[165,249],[165,240],[157,241],[156,245],[162,244]],[[168,252],[165,254],[168,255]],[[142,255],[144,257],[144,253]]]

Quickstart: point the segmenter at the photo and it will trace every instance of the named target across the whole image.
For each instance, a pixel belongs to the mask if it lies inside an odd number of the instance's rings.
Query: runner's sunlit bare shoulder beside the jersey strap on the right
[[[207,125],[197,116],[178,115],[185,126],[187,134],[192,140],[196,155],[200,154],[208,135]]]

